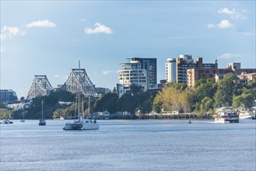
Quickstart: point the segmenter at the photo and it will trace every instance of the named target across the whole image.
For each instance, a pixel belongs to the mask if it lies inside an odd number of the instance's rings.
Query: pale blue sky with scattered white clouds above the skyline
[[[86,69],[96,87],[114,89],[127,58],[191,54],[219,68],[256,68],[255,1],[1,0],[0,89],[26,96],[34,75],[64,84]]]

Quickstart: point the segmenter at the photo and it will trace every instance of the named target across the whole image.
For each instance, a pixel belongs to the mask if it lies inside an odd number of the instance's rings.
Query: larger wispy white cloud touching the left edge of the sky
[[[4,26],[1,30],[1,40],[12,39],[12,37],[23,36],[25,33],[15,26]]]

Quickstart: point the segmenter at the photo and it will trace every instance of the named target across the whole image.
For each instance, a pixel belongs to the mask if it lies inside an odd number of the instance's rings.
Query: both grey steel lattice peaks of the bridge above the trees
[[[72,93],[81,92],[87,97],[96,96],[95,85],[90,81],[85,69],[72,69],[68,80],[59,89]],[[37,96],[48,96],[53,90],[46,75],[35,75],[26,98],[33,99]]]

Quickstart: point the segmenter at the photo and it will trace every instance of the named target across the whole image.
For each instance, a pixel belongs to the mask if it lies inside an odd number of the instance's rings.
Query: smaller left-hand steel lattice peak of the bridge
[[[35,75],[27,99],[33,99],[37,96],[48,96],[53,90],[46,75]]]

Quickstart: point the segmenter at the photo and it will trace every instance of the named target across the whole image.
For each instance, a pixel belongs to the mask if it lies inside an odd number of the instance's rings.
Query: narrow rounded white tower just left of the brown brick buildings
[[[167,82],[176,82],[176,58],[167,58],[165,63],[165,79]]]

